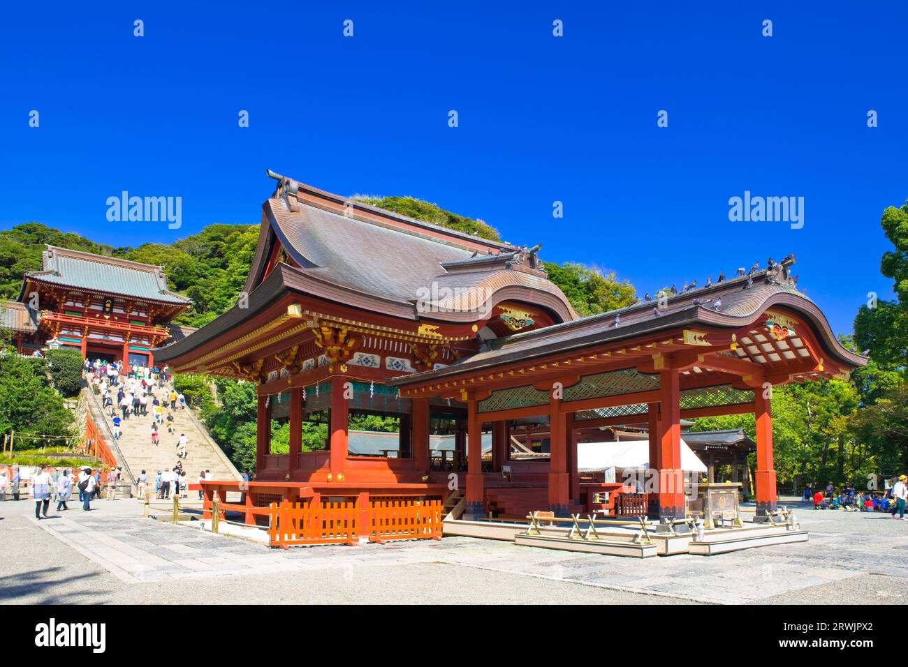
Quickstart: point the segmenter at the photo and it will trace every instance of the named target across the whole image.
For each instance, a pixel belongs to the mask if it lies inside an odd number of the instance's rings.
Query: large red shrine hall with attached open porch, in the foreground
[[[794,257],[659,304],[577,318],[538,246],[269,174],[278,184],[237,304],[153,350],[177,373],[255,385],[247,523],[272,502],[324,498],[464,495],[468,519],[597,508],[598,492],[623,489],[578,474],[577,442],[620,425],[646,428],[659,476],[646,506],[670,521],[686,513],[683,485],[672,484],[681,421],[735,413],[756,416],[759,520],[776,501],[772,387],[864,364],[796,288]],[[351,415],[394,417],[399,433],[386,449],[351,453]],[[272,444],[275,420],[289,423],[289,451]],[[304,451],[307,421],[327,435]],[[453,448],[435,449],[439,435]],[[237,488],[204,486],[209,500]]]

